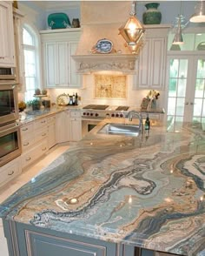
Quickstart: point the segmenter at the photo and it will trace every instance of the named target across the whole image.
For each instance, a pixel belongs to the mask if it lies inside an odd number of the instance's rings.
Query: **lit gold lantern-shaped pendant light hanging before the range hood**
[[[136,18],[136,1],[133,1],[132,3],[132,9],[129,16],[126,24],[119,28],[119,34],[122,35],[129,46],[136,48],[136,45],[140,45],[142,36],[145,32],[142,24]]]

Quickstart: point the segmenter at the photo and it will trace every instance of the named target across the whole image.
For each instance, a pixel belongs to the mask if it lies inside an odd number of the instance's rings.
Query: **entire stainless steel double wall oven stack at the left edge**
[[[21,154],[17,118],[17,83],[13,69],[0,68],[0,166]]]

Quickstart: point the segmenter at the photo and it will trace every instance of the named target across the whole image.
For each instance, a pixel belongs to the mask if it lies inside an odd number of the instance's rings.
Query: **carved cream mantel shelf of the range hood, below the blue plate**
[[[90,54],[74,55],[78,73],[91,71],[122,71],[123,73],[136,72],[136,55],[132,54]]]

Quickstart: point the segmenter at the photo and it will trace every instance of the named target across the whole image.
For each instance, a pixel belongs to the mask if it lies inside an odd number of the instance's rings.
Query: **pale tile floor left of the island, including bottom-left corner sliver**
[[[13,192],[17,191],[22,185],[27,183],[36,173],[40,172],[44,166],[49,165],[55,158],[61,155],[69,148],[69,145],[57,145],[44,157],[37,161],[34,165],[30,166],[28,170],[24,171],[16,179],[12,179],[9,184],[4,185],[0,189],[0,204],[4,199],[7,199]],[[7,242],[3,234],[3,223],[0,219],[0,255],[9,256],[7,250]]]

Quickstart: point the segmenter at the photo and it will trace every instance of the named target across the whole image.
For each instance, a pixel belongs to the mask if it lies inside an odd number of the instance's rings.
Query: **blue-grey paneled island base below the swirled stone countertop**
[[[155,256],[155,252],[135,246],[56,232],[5,219],[3,229],[10,256]]]

